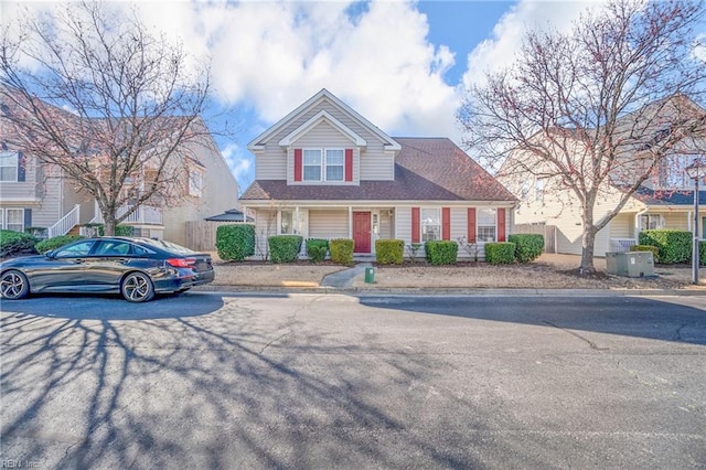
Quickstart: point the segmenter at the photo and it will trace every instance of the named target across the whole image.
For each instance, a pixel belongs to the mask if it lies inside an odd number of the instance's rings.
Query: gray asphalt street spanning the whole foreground
[[[3,468],[706,468],[704,297],[1,307]]]

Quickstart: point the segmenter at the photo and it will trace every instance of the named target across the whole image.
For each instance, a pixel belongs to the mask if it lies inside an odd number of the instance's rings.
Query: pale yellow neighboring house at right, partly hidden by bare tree
[[[680,97],[677,99],[684,99]],[[656,102],[655,102],[656,103]],[[650,105],[652,106],[652,105]],[[693,102],[688,102],[689,108],[695,113],[706,113]],[[668,113],[670,107],[661,104],[662,113]],[[625,119],[625,121],[628,121]],[[654,138],[660,138],[660,127],[656,122],[666,122],[668,119],[652,118],[650,130]],[[632,128],[639,128],[632,121]],[[623,156],[629,164],[617,168],[610,178],[610,184],[601,189],[598,203],[593,211],[593,218],[599,221],[609,211],[613,210],[622,189],[630,178],[634,178],[635,167],[644,165],[641,152],[649,151],[648,146],[638,146]],[[699,158],[694,147],[675,147],[674,156],[667,157],[656,169],[654,175],[646,180],[638,191],[628,200],[620,213],[596,236],[595,255],[605,256],[607,252],[628,252],[632,245],[638,244],[640,232],[651,228],[673,228],[693,231],[694,228],[694,181],[689,180],[684,169]],[[513,158],[520,157],[514,152]],[[541,164],[541,163],[536,163]],[[644,167],[643,167],[644,168]],[[632,170],[632,171],[631,171]],[[642,169],[640,169],[642,171]],[[638,173],[640,172],[638,171]],[[501,169],[501,173],[504,170]],[[538,171],[541,173],[541,171]],[[631,175],[631,173],[633,173]],[[576,195],[560,188],[558,179],[537,178],[531,174],[514,174],[500,180],[520,199],[515,212],[515,224],[518,231],[530,231],[527,225],[554,226],[556,239],[556,253],[581,254],[582,223],[580,204]],[[699,204],[706,204],[706,191],[699,188]],[[699,235],[704,238],[706,233],[706,213],[699,211]]]

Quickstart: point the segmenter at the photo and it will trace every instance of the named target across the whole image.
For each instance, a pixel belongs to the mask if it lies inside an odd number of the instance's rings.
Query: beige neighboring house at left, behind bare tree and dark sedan
[[[96,202],[77,190],[71,178],[56,168],[39,161],[24,151],[13,138],[15,127],[7,119],[7,104],[0,113],[0,228],[23,232],[30,227],[45,228],[46,236],[77,234],[85,224],[100,223]],[[56,109],[56,108],[55,108]],[[66,111],[62,119],[77,119]],[[158,237],[188,244],[185,223],[202,221],[237,203],[238,185],[218,151],[205,124],[199,119],[193,126],[202,126],[199,141],[189,141],[188,168],[183,194],[179,204],[168,206],[160,201],[141,205],[124,225],[133,226],[136,236]],[[149,172],[146,168],[143,171]],[[120,207],[125,214],[128,206]],[[85,231],[84,231],[85,233]]]

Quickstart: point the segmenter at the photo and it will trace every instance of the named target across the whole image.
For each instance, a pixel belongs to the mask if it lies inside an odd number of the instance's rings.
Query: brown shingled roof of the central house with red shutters
[[[292,184],[257,180],[240,201],[516,201],[447,138],[394,138],[402,146],[394,181],[360,185]]]

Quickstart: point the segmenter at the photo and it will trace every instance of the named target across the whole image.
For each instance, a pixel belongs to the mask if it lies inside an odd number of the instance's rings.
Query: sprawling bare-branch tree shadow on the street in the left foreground
[[[296,311],[271,318],[244,299],[220,301],[207,316],[141,321],[36,317],[31,303],[3,313],[3,459],[42,468],[395,468],[410,455],[429,467],[482,463],[468,451],[472,434],[440,430],[483,429],[489,417],[462,396],[430,406],[428,384],[443,373],[436,361],[385,349],[375,334],[341,342]],[[499,452],[518,451],[507,446]]]

